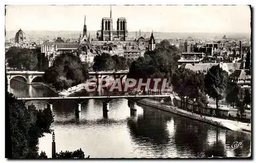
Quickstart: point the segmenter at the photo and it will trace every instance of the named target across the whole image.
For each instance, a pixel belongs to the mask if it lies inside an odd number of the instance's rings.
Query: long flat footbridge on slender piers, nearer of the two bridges
[[[109,103],[115,99],[127,99],[128,105],[132,111],[137,110],[137,102],[142,99],[147,98],[160,98],[164,101],[170,101],[170,95],[120,95],[120,96],[83,96],[83,97],[42,97],[42,98],[17,98],[18,100],[23,100],[25,103],[29,101],[44,101],[53,109],[53,104],[57,101],[62,100],[72,100],[77,104],[77,108],[75,111],[76,118],[79,119],[81,117],[81,104],[90,99],[98,99],[103,103],[103,117],[108,116],[109,111]]]

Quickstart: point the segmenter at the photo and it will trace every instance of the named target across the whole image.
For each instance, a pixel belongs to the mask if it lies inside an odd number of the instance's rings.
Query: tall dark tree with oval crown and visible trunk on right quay
[[[216,111],[219,116],[219,100],[223,99],[224,91],[227,84],[227,72],[220,66],[212,66],[205,75],[204,85],[205,92],[210,98],[216,100]]]

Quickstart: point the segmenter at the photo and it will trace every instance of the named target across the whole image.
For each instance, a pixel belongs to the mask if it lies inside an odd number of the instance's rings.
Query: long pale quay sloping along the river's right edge
[[[138,102],[139,104],[151,106],[160,110],[172,112],[178,115],[182,115],[183,117],[187,117],[189,119],[194,119],[197,121],[205,122],[214,126],[230,129],[233,131],[247,131],[251,132],[251,125],[248,125],[246,123],[241,123],[237,121],[231,121],[231,120],[225,120],[225,119],[219,119],[215,117],[207,117],[202,116],[200,114],[196,114],[187,110],[183,110],[181,108],[178,108],[176,106],[172,105],[166,105],[159,101],[152,100],[152,99],[143,99]]]

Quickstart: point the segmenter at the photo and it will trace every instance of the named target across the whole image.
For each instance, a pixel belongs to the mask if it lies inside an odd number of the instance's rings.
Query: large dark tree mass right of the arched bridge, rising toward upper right
[[[162,40],[156,44],[155,51],[147,51],[144,57],[131,63],[127,78],[167,78],[170,81],[173,72],[178,68],[179,53],[176,46],[170,45],[168,40]]]

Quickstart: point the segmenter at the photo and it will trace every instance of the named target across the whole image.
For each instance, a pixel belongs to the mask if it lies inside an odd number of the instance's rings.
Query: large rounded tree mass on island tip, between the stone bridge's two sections
[[[67,89],[89,78],[88,64],[73,54],[62,54],[46,69],[43,78],[57,90]]]

